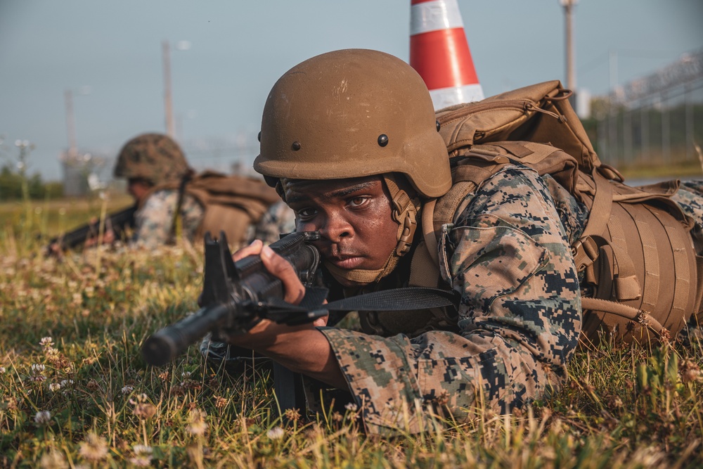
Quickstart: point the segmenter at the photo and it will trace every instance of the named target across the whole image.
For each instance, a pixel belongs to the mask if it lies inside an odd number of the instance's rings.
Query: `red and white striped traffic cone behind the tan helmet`
[[[434,109],[481,101],[456,0],[411,0],[410,65],[423,77]]]

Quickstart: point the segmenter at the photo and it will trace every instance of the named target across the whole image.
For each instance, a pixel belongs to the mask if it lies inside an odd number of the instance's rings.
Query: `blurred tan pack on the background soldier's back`
[[[195,237],[201,240],[208,231],[212,236],[219,236],[224,231],[228,244],[239,248],[247,241],[247,230],[256,224],[269,206],[280,198],[273,188],[264,181],[247,176],[228,176],[219,172],[206,171],[186,181],[185,186],[172,182],[156,186],[153,191],[171,189],[186,193],[205,207]],[[175,210],[174,217],[179,216],[180,210]],[[174,218],[173,229],[177,220]]]

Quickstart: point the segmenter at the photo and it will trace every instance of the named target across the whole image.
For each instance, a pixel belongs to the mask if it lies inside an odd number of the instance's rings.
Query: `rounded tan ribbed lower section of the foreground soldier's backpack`
[[[595,298],[646,311],[676,333],[699,307],[697,259],[687,229],[653,202],[612,203],[602,236],[591,237],[598,245],[595,262],[579,262],[576,267],[585,270],[585,283]],[[583,342],[598,342],[600,330],[626,342],[650,339],[641,323],[618,316],[617,311],[589,308],[586,302]]]

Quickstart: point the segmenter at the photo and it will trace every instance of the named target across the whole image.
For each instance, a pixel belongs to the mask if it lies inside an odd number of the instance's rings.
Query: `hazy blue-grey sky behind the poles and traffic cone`
[[[30,172],[61,176],[65,89],[79,149],[114,155],[165,131],[162,41],[171,53],[179,140],[256,144],[264,100],[296,63],[344,48],[408,60],[410,0],[0,0],[0,164],[34,144]],[[484,94],[565,81],[559,0],[459,0]],[[605,94],[703,48],[703,0],[580,0],[577,84]],[[190,49],[175,49],[189,41]],[[617,53],[617,74],[609,53]],[[90,94],[82,95],[82,87]],[[250,153],[255,153],[256,148]],[[251,155],[252,157],[254,155]],[[197,155],[188,155],[202,169]],[[220,155],[227,164],[231,155]],[[108,168],[105,171],[110,173]]]

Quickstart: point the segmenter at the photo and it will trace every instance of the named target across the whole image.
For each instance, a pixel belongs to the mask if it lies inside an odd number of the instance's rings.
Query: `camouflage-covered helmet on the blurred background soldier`
[[[191,169],[178,143],[163,134],[141,134],[124,144],[115,177],[140,178],[153,186],[180,181]]]

